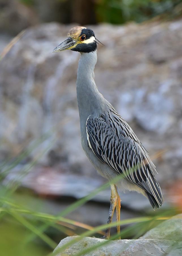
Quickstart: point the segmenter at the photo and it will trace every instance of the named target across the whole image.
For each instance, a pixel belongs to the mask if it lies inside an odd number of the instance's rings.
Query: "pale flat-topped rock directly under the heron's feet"
[[[77,255],[81,251],[95,245],[101,245],[92,252],[85,253],[85,256],[180,256],[182,254],[182,242],[174,242],[168,240],[155,239],[139,239],[139,240],[115,240],[110,241],[106,245],[104,240],[100,238],[85,237],[81,241],[69,245],[67,249],[59,253],[59,248],[62,245],[79,238],[78,236],[67,237],[61,240],[55,251],[58,249],[57,256],[62,255]]]

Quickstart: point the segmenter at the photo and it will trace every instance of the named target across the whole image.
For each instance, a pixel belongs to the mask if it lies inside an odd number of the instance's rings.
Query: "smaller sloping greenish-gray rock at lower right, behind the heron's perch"
[[[157,227],[149,230],[140,239],[146,238],[182,241],[182,214],[178,214],[169,220],[165,220]]]

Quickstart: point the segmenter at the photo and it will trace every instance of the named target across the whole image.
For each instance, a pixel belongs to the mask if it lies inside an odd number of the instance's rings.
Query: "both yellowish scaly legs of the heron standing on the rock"
[[[114,210],[116,207],[116,219],[117,222],[120,222],[120,197],[117,193],[116,186],[111,184],[111,198],[110,198],[110,209],[109,209],[109,217],[108,217],[108,224],[112,222]],[[110,230],[111,228],[107,228],[105,231],[104,236],[102,239],[109,239],[110,237]],[[117,225],[117,233],[120,233],[120,225]]]

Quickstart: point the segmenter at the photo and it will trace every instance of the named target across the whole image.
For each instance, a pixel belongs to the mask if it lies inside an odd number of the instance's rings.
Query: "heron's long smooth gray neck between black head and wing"
[[[76,81],[80,121],[87,118],[93,112],[99,111],[103,106],[104,98],[98,91],[94,81],[96,62],[97,51],[81,53]]]

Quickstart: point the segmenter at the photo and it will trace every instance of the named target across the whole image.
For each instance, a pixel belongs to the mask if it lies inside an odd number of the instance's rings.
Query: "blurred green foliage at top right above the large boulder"
[[[96,11],[99,22],[122,24],[142,22],[156,15],[173,12],[181,0],[100,0]]]

